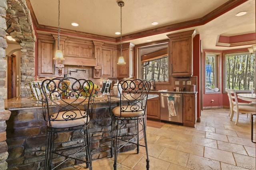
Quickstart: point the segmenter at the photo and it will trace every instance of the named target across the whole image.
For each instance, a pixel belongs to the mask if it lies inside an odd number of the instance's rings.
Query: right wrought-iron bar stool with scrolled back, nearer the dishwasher
[[[122,90],[118,90],[118,106],[112,107],[111,99],[117,96],[108,96],[109,110],[112,113],[111,130],[111,157],[114,154],[114,170],[117,169],[118,152],[124,152],[125,146],[134,146],[139,153],[139,147],[146,149],[146,169],[149,170],[148,145],[146,138],[145,113],[150,90],[150,81],[134,79],[118,82]],[[142,129],[144,143],[140,143],[140,131]]]

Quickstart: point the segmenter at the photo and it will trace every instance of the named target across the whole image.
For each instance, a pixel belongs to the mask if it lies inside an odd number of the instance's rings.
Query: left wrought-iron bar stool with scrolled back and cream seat
[[[85,162],[86,168],[92,170],[89,121],[93,82],[64,77],[45,79],[42,84],[46,86],[42,87],[40,101],[48,127],[44,169],[63,168],[64,162],[73,159]]]

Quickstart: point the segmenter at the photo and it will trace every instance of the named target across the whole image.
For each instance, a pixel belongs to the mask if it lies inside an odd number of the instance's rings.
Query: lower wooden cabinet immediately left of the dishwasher
[[[156,93],[154,93],[156,94]],[[147,101],[147,119],[160,120],[160,97],[148,99]]]

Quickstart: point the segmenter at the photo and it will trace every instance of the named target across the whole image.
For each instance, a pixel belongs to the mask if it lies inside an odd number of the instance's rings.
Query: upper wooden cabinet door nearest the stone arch
[[[55,41],[38,39],[38,75],[54,76]]]

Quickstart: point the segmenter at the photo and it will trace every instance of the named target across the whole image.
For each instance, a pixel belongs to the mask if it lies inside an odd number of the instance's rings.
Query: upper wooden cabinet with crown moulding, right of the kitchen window
[[[170,39],[171,76],[193,75],[193,38],[195,30],[167,35]]]

